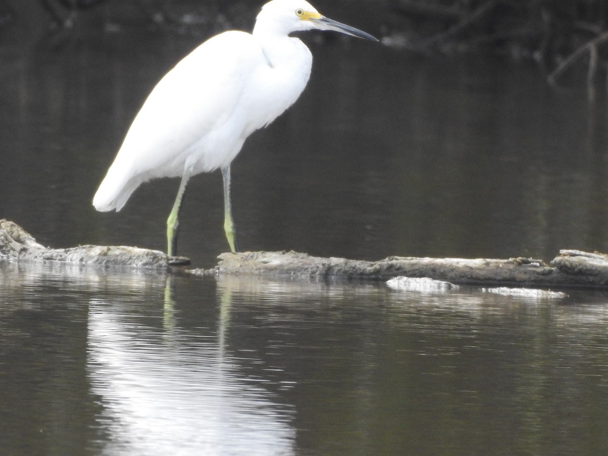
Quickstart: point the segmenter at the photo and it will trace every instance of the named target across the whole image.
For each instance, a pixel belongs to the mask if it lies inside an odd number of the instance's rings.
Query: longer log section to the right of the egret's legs
[[[215,268],[190,272],[367,280],[406,276],[468,285],[608,287],[608,257],[577,250],[561,250],[551,265],[533,258],[389,257],[380,261],[361,261],[311,257],[298,252],[246,252],[221,254]]]

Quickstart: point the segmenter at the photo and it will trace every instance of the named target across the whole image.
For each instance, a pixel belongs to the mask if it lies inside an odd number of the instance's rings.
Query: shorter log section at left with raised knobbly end
[[[167,268],[187,258],[167,257],[159,250],[128,246],[78,246],[69,249],[49,249],[18,224],[0,219],[0,258],[32,261],[60,261],[70,264],[131,266],[134,268]],[[186,263],[188,264],[188,263]]]

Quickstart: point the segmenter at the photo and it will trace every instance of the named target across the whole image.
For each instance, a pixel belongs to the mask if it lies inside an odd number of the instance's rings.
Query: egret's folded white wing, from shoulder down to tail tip
[[[120,210],[142,182],[181,176],[189,152],[230,119],[261,64],[266,63],[254,38],[236,31],[214,36],[187,55],[143,104],[94,206]]]

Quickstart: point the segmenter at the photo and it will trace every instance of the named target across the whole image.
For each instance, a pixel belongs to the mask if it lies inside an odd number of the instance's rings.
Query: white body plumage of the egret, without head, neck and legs
[[[120,210],[139,184],[182,176],[186,166],[193,174],[227,167],[247,136],[295,102],[313,63],[308,48],[291,38],[288,46],[305,58],[273,65],[251,37],[216,35],[162,78],[95,194],[95,209]]]

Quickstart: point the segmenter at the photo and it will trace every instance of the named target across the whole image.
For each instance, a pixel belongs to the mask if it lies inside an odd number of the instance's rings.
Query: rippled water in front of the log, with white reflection
[[[603,454],[606,295],[2,266],[5,454]]]

